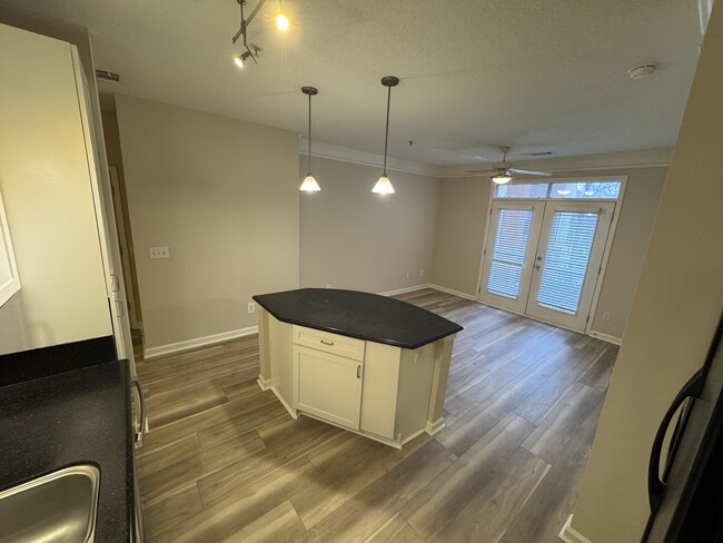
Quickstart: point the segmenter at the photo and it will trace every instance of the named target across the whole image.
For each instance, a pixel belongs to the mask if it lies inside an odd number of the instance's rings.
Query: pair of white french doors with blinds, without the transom
[[[479,299],[584,330],[615,204],[496,201]]]

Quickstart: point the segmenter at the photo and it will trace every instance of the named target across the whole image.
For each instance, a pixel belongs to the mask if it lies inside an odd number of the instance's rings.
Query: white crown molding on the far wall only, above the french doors
[[[581,155],[577,157],[553,157],[537,160],[513,160],[515,166],[524,169],[538,169],[554,174],[564,171],[585,171],[605,169],[650,168],[670,166],[673,149],[652,149],[642,151],[607,152],[604,155]],[[469,169],[493,167],[493,162],[477,162],[467,166],[446,166],[439,168],[439,177],[482,177],[481,174],[467,174]]]

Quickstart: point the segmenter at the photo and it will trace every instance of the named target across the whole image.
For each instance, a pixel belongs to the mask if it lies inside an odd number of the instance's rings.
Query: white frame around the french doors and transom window
[[[545,182],[545,184],[553,184],[553,182],[582,182],[582,181],[620,181],[621,182],[621,188],[620,188],[620,194],[617,195],[616,200],[612,199],[605,199],[605,200],[594,200],[594,199],[575,199],[575,198],[570,198],[570,199],[564,199],[564,198],[535,198],[542,201],[548,201],[548,200],[554,200],[554,201],[607,201],[607,203],[614,203],[615,204],[615,210],[613,211],[613,220],[610,225],[610,230],[607,233],[607,240],[605,243],[605,249],[603,251],[603,259],[601,261],[601,267],[602,270],[600,275],[597,276],[597,282],[595,283],[595,290],[593,292],[593,302],[590,306],[590,314],[588,316],[591,318],[587,319],[587,324],[585,325],[585,330],[584,334],[587,335],[596,335],[595,330],[592,329],[593,327],[593,322],[595,320],[593,316],[597,312],[597,304],[600,302],[600,294],[603,288],[603,284],[605,282],[605,274],[607,273],[607,263],[610,260],[610,254],[613,247],[613,241],[615,240],[615,234],[617,231],[617,221],[620,220],[621,216],[621,210],[623,208],[623,203],[625,201],[625,189],[627,187],[627,175],[611,175],[611,176],[575,176],[575,177],[553,177],[553,178],[545,178],[545,179],[538,179],[538,178],[525,178],[521,179],[521,181],[525,182]],[[487,254],[487,248],[488,245],[491,245],[489,241],[489,226],[492,224],[492,206],[494,205],[496,198],[495,198],[495,185],[492,181],[492,179],[487,179],[487,182],[489,182],[489,197],[487,198],[487,210],[486,210],[486,219],[485,219],[485,234],[484,234],[484,240],[482,244],[482,253],[479,255],[479,259],[477,260],[479,263],[479,267],[477,270],[477,295],[475,299],[482,304],[486,304],[485,302],[482,302],[479,299],[479,294],[482,293],[482,279],[483,279],[483,272],[484,272],[484,258],[485,255]],[[505,198],[505,200],[524,200],[524,198]],[[509,310],[509,309],[505,309]],[[517,313],[517,312],[512,312],[512,313]],[[525,315],[524,313],[517,313],[518,315],[526,316],[527,318],[534,318]],[[564,326],[562,326],[564,328]]]

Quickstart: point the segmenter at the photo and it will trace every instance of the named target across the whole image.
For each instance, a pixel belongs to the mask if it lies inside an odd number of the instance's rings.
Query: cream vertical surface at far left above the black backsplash
[[[22,286],[0,308],[0,354],[108,336],[70,45],[0,24],[0,191]]]

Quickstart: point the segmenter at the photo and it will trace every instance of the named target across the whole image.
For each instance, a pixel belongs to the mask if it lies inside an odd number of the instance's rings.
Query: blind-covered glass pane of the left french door
[[[532,209],[501,209],[489,265],[487,292],[517,299],[525,264]]]

